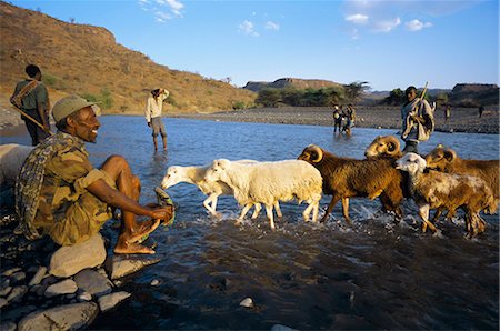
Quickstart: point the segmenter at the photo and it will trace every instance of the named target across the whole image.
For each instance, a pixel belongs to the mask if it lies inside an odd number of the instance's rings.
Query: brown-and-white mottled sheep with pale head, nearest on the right
[[[424,172],[426,160],[416,153],[407,153],[397,161],[397,168],[408,171],[412,198],[419,207],[423,221],[422,232],[429,227],[436,234],[440,231],[429,221],[430,209],[446,207],[450,212],[457,208],[466,211],[467,231],[474,237],[484,231],[486,222],[479,212],[493,212],[497,209],[493,194],[479,177],[444,173],[434,170]]]

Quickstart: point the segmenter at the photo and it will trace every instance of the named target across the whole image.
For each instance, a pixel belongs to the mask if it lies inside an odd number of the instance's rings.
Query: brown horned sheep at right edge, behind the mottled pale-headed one
[[[498,205],[499,202],[499,160],[463,160],[460,159],[451,148],[438,144],[426,157],[427,167],[447,173],[460,173],[477,175],[484,180],[491,191]]]

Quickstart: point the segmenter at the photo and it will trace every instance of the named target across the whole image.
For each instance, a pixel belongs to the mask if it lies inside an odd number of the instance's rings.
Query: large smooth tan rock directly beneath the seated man
[[[57,277],[71,277],[83,269],[102,264],[104,259],[104,240],[98,233],[84,242],[57,250],[50,259],[49,272]]]

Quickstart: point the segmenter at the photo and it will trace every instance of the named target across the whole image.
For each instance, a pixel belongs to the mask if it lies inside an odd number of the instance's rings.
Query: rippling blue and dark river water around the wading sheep
[[[88,144],[91,160],[99,165],[112,153],[124,156],[142,181],[144,203],[156,200],[153,188],[169,165],[296,159],[310,143],[363,158],[377,136],[396,133],[354,128],[347,139],[333,137],[330,127],[164,119],[169,148],[156,153],[142,118],[100,120],[98,142]],[[7,142],[28,143],[28,137],[2,137]],[[497,134],[434,132],[421,153],[437,143],[466,159],[499,156]],[[499,329],[498,214],[486,215],[486,233],[468,240],[460,212],[454,223],[437,223],[443,238],[421,233],[411,201],[396,224],[379,212],[379,201],[352,199],[351,228],[340,204],[327,223],[311,224],[302,221],[304,204],[282,203],[283,218],[271,232],[264,213],[236,227],[232,197],[220,198],[219,220],[207,214],[196,187],[167,192],[179,210],[173,227],[151,235],[161,261],[126,279],[122,288],[132,298],[92,329]],[[246,298],[254,308],[239,305]]]

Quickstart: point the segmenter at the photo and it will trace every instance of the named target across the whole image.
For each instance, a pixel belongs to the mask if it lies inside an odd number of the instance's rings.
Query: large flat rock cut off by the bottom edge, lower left
[[[99,313],[93,302],[81,302],[39,310],[23,318],[18,330],[78,330],[89,327]]]

